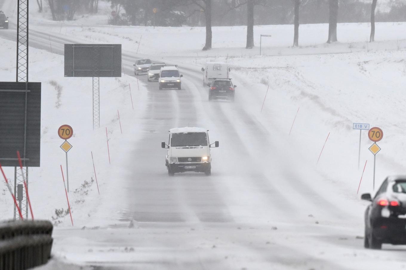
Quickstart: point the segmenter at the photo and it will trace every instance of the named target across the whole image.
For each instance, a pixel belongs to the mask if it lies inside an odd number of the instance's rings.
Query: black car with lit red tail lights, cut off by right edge
[[[384,180],[365,210],[365,238],[367,249],[381,249],[382,244],[406,244],[406,176],[391,176]]]

